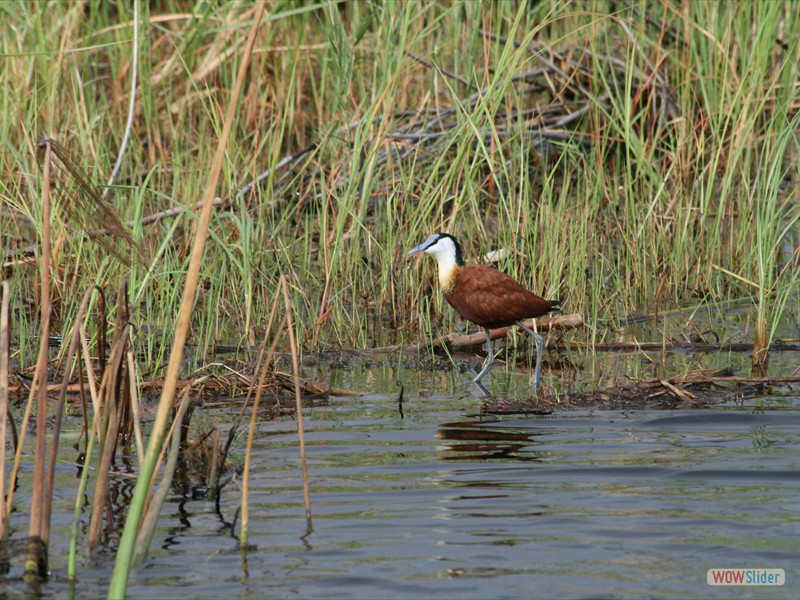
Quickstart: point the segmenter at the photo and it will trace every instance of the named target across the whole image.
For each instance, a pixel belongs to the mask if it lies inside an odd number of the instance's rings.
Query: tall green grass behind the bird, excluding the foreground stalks
[[[797,270],[775,280],[762,265],[758,275],[750,249],[762,244],[767,257],[797,214],[796,11],[790,2],[612,7],[272,5],[226,154],[225,205],[212,217],[196,360],[220,338],[257,342],[280,273],[298,292],[306,348],[375,344],[373,316],[388,317],[387,342],[418,337],[431,316],[451,327],[441,299],[419,297],[433,287],[431,266],[400,262],[439,229],[473,259],[511,250],[500,266],[584,313],[593,339],[605,319],[652,310],[659,286],[661,301],[681,305],[751,297],[774,335],[781,311],[762,292],[787,290],[778,306],[792,306]],[[183,8],[164,2],[142,15],[134,136],[111,190],[134,223],[199,199],[253,18],[247,5]],[[0,249],[27,368],[38,273],[14,250],[40,234],[32,140],[48,132],[105,179],[126,118],[132,13],[126,4],[0,11]],[[572,115],[548,126],[563,135],[539,137],[543,115],[556,113]],[[237,193],[265,171],[256,191]],[[191,212],[134,225],[152,261],[130,274],[146,373],[165,363],[195,226]],[[122,271],[58,208],[53,227],[53,320],[66,332],[76,294]],[[772,275],[756,288],[726,273]]]

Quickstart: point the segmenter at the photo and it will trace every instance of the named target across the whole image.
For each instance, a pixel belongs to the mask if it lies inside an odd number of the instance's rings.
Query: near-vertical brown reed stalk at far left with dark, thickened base
[[[42,191],[42,262],[41,262],[41,322],[39,333],[39,358],[36,362],[34,387],[38,386],[38,408],[36,417],[36,444],[33,464],[33,489],[31,492],[31,515],[28,527],[28,554],[25,559],[25,576],[43,579],[47,576],[47,542],[42,539],[42,514],[44,496],[44,458],[47,449],[47,363],[50,337],[50,161],[53,147],[45,141],[44,189]],[[18,453],[19,456],[19,453]],[[16,465],[16,463],[15,463]]]

